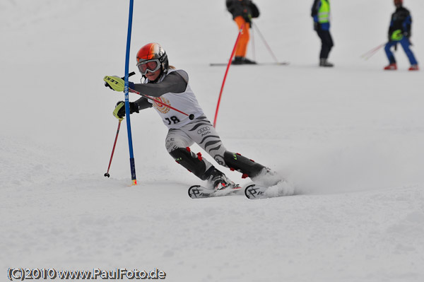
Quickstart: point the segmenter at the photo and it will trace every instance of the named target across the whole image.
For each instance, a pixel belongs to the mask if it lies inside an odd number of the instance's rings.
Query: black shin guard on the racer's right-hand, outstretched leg
[[[230,170],[237,170],[238,172],[242,172],[243,178],[255,177],[261,173],[263,168],[265,168],[264,165],[255,163],[254,160],[243,157],[239,153],[232,153],[229,151],[225,151],[224,161],[225,165],[227,165]]]

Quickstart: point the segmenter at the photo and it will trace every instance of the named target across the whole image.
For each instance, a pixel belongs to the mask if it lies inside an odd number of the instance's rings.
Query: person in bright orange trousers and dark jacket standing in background
[[[259,17],[259,9],[251,0],[226,0],[228,11],[232,14],[232,19],[242,29],[242,35],[235,49],[235,57],[231,64],[257,64],[246,58],[247,44],[249,43],[249,28],[252,25],[252,18]]]

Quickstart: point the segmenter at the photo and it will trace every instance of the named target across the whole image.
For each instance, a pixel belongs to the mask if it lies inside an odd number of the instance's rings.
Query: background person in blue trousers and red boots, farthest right
[[[413,52],[409,48],[411,41],[411,24],[412,18],[409,11],[404,8],[403,0],[394,0],[394,6],[396,11],[391,14],[390,26],[389,26],[389,42],[387,42],[384,50],[386,51],[387,59],[389,59],[389,65],[385,66],[385,70],[396,70],[397,64],[394,59],[394,54],[391,52],[391,47],[394,46],[396,50],[397,44],[400,43],[404,48],[406,56],[408,56],[411,67],[409,71],[418,71],[418,62],[413,56]]]

